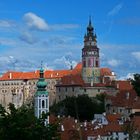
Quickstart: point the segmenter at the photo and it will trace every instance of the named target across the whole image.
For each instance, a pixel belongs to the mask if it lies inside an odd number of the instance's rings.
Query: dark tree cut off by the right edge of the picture
[[[137,95],[140,96],[140,74],[134,74],[134,80],[131,80],[131,82]]]

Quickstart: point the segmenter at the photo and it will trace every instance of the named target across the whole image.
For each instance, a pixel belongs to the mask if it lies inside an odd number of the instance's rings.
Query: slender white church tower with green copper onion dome
[[[35,116],[37,118],[41,117],[43,113],[49,112],[49,96],[46,91],[47,82],[44,78],[44,70],[40,69],[40,78],[37,82],[37,91],[35,93]],[[45,123],[48,123],[48,119]]]

